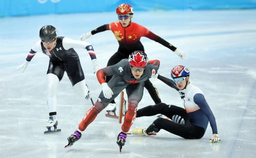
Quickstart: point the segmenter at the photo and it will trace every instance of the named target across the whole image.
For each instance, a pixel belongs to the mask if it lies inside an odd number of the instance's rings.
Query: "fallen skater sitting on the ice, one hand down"
[[[157,118],[147,129],[132,129],[131,134],[145,136],[163,129],[185,139],[200,139],[204,136],[210,122],[213,132],[210,140],[214,143],[219,142],[215,117],[204,98],[204,93],[190,83],[190,71],[185,66],[178,65],[171,71],[173,80],[158,74],[155,77],[179,91],[184,108],[165,103],[141,108],[137,110],[136,117],[154,116],[161,113],[171,120]]]

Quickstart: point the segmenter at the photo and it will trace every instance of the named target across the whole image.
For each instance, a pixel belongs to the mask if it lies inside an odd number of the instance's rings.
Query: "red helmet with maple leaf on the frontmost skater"
[[[142,68],[147,65],[147,54],[144,51],[135,50],[128,58],[130,66]]]

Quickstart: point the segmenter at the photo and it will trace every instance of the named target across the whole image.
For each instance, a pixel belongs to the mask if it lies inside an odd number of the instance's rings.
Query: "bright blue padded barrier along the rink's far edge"
[[[256,8],[256,0],[1,0],[0,17],[113,12],[121,3],[135,11]]]

